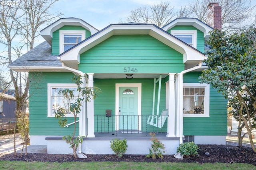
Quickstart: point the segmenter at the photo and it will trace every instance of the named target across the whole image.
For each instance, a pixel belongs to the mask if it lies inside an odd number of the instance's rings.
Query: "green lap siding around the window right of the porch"
[[[184,74],[184,83],[198,83],[200,72]],[[210,117],[184,117],[183,135],[226,135],[227,100],[210,86]]]

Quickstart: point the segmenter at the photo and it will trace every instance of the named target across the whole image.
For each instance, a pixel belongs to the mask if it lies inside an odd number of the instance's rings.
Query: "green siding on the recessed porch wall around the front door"
[[[95,117],[95,131],[114,131],[115,129],[115,86],[116,83],[141,83],[142,84],[142,115],[152,115],[152,104],[153,104],[153,86],[154,79],[94,79],[94,86],[101,89],[101,93],[98,94],[98,97],[94,101],[94,114],[98,115]],[[158,86],[158,84],[157,84]],[[156,88],[156,96],[158,94],[158,88]],[[165,109],[165,84],[162,81],[161,86],[161,96],[160,96],[160,113],[162,109]],[[156,97],[157,103],[157,97]],[[112,116],[105,117],[105,110],[111,109]],[[156,106],[155,106],[155,114],[156,114]],[[144,117],[146,118],[146,117]],[[109,121],[108,121],[109,120]],[[111,121],[113,120],[113,123]],[[142,131],[146,131],[146,119],[142,120]],[[108,129],[108,123],[110,123],[110,129]],[[102,129],[100,126],[102,125]],[[106,127],[104,127],[106,125]],[[167,125],[167,121],[166,121]],[[150,131],[159,131],[158,128],[153,127],[151,125],[147,125],[147,132]],[[164,129],[162,129],[164,131]]]

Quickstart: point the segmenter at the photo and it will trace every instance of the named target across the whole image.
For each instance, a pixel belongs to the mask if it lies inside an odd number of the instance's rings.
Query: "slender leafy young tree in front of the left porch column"
[[[76,136],[76,119],[78,114],[81,111],[81,107],[84,102],[90,102],[90,100],[94,99],[99,92],[99,88],[88,88],[84,87],[84,82],[82,81],[82,76],[74,76],[72,80],[77,85],[76,92],[71,89],[60,90],[58,93],[64,96],[65,104],[67,107],[62,107],[55,114],[55,118],[58,119],[58,123],[61,127],[64,127],[67,124],[68,119],[66,118],[66,114],[72,113],[74,115],[74,132],[70,135],[64,136],[62,139],[66,141],[66,143],[70,144],[70,148],[73,149],[73,156],[77,158],[77,148],[79,144],[82,144],[83,138],[82,136]],[[77,94],[78,96],[74,95]]]

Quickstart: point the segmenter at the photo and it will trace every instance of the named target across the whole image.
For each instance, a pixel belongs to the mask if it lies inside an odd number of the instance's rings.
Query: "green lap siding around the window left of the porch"
[[[74,74],[69,72],[43,72],[40,80],[34,82],[34,72],[30,72],[30,135],[68,135],[74,131],[74,125],[61,128],[58,119],[47,117],[47,83],[74,83],[71,78]],[[78,118],[79,119],[79,118]],[[68,117],[68,123],[74,122],[74,117]],[[79,123],[76,127],[79,133]]]

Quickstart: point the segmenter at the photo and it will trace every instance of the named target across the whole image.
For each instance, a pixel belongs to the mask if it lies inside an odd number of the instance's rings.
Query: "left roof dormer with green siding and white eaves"
[[[52,46],[52,55],[60,55],[98,29],[78,18],[61,18],[40,31],[42,37]]]

